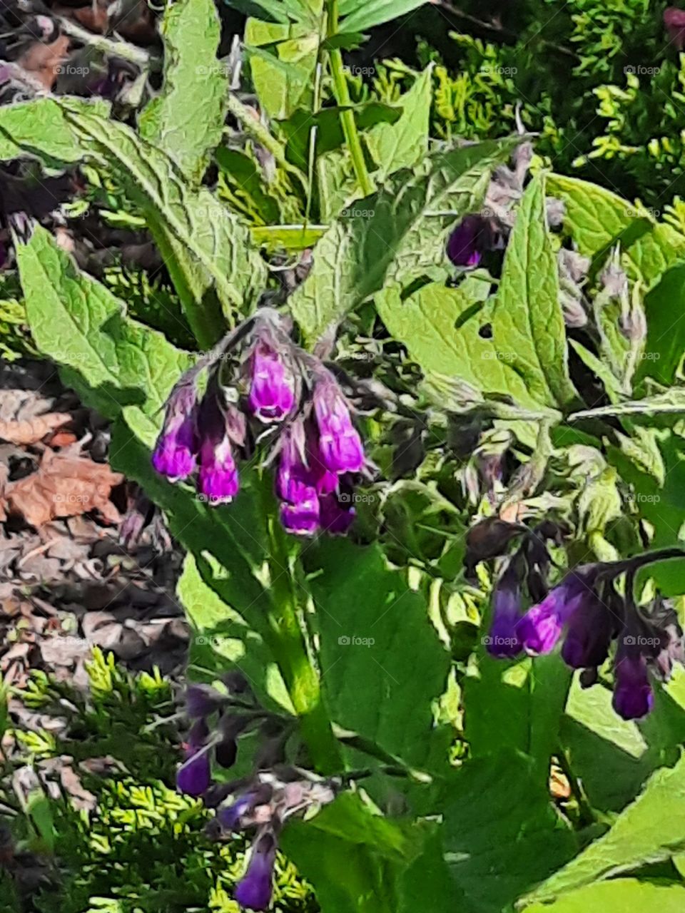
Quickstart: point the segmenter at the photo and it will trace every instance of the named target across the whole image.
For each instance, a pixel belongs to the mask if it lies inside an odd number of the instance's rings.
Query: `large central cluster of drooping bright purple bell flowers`
[[[246,341],[246,353],[226,388],[220,370],[237,341]],[[200,394],[205,368],[209,378]],[[239,489],[239,457],[248,442],[264,438],[272,444],[266,462],[279,458],[276,490],[285,529],[346,532],[354,519],[350,493],[368,465],[352,407],[333,373],[296,346],[279,315],[266,308],[175,385],[153,467],[174,482],[195,474],[203,499],[226,503]]]

